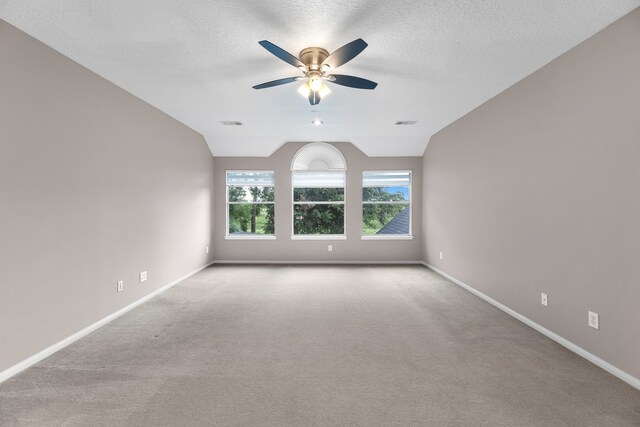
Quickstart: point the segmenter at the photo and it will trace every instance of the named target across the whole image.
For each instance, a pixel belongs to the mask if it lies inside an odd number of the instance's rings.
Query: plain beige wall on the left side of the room
[[[213,158],[4,21],[0,64],[2,372],[207,263]]]

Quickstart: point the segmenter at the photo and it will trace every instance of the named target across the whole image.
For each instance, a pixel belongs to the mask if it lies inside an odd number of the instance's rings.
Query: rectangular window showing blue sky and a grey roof
[[[411,237],[411,171],[362,173],[362,236]]]

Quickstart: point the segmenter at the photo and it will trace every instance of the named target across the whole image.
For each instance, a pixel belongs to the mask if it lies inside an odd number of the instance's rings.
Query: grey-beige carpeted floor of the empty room
[[[640,391],[420,266],[215,266],[0,384],[2,426],[640,426]]]

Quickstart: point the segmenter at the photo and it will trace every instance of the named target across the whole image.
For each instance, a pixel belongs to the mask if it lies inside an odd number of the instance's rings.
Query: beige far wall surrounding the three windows
[[[215,259],[217,261],[419,261],[422,259],[422,159],[420,157],[367,157],[349,143],[333,143],[347,161],[347,240],[291,240],[291,160],[304,143],[290,142],[268,158],[216,157],[215,188],[219,200],[225,197],[226,170],[267,169],[275,171],[276,240],[225,240],[226,206],[215,206]],[[362,171],[413,170],[413,240],[361,240]],[[327,245],[333,251],[327,251]]]

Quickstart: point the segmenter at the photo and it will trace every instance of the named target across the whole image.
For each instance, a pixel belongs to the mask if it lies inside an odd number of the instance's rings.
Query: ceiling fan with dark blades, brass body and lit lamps
[[[300,86],[298,92],[307,98],[311,105],[316,105],[323,97],[331,93],[331,89],[329,89],[325,81],[356,89],[375,89],[375,87],[378,86],[378,83],[361,77],[331,73],[332,69],[338,68],[351,61],[367,47],[367,43],[362,39],[347,43],[331,55],[321,47],[307,47],[300,52],[300,58],[296,58],[286,50],[267,40],[262,40],[258,43],[284,62],[298,68],[304,75],[262,83],[253,86],[254,89],[280,86],[307,79],[307,81]]]

